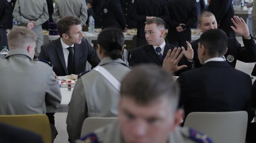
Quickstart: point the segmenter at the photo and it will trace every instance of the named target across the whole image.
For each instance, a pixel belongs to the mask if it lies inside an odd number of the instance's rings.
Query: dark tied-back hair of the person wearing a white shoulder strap
[[[103,29],[99,33],[97,43],[111,59],[122,58],[122,48],[125,44],[125,37],[119,28],[108,27]]]

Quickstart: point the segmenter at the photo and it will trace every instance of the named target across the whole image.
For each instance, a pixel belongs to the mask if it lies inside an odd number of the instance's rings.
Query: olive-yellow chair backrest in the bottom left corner
[[[44,143],[52,143],[50,123],[47,115],[0,115],[0,122],[35,132],[42,136]]]

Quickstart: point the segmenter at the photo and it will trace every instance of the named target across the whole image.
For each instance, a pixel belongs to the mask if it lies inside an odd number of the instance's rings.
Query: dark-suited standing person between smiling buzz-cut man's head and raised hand
[[[230,28],[230,26],[233,25],[230,19],[235,15],[232,1],[233,0],[211,0],[208,10],[215,15],[218,28],[225,31],[227,37],[235,38],[236,34]]]

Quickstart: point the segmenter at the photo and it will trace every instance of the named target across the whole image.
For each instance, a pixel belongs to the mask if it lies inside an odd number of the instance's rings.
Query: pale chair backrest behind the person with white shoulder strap
[[[109,123],[117,121],[117,117],[89,117],[84,120],[81,137],[87,135],[90,132],[93,132],[95,129],[98,129],[102,126],[105,126]]]

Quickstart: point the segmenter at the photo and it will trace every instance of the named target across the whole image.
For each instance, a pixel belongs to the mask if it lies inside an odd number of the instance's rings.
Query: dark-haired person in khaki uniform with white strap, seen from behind
[[[131,70],[121,59],[124,42],[124,35],[118,28],[103,29],[97,40],[97,52],[101,59],[99,66],[119,82]],[[71,141],[80,138],[85,118],[116,117],[118,113],[119,89],[116,89],[99,71],[92,70],[83,74],[73,90],[67,114],[67,132]]]

